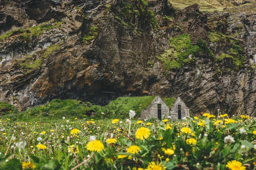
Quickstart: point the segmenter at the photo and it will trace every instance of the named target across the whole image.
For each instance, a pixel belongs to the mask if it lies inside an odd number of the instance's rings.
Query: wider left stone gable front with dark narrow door
[[[154,100],[147,106],[147,108],[143,109],[140,114],[141,119],[149,119],[151,117],[163,119],[165,116],[169,114],[169,107],[163,101],[160,96],[156,96]]]

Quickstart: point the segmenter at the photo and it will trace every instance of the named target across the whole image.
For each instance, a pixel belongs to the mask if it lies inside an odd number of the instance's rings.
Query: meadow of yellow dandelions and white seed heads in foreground
[[[0,169],[253,170],[256,119],[0,120]]]

